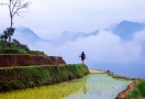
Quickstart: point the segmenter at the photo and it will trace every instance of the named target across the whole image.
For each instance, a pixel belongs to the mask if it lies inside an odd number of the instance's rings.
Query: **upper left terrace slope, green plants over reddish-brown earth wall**
[[[0,41],[0,67],[66,64],[60,56],[48,56],[41,51],[31,51],[18,40]]]

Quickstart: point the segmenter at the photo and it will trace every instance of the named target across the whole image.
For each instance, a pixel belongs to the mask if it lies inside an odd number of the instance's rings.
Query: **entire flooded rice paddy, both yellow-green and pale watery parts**
[[[114,99],[130,80],[114,79],[107,74],[90,74],[53,86],[35,87],[0,94],[0,99]]]

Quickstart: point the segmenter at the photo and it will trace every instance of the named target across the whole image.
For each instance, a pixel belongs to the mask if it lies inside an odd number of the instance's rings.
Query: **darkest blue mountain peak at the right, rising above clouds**
[[[142,31],[145,25],[137,22],[122,21],[114,29],[113,33],[120,35],[123,40],[131,40],[135,32]]]

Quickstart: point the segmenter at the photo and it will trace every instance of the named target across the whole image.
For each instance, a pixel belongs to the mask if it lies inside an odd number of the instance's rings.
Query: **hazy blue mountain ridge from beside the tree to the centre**
[[[99,31],[92,32],[92,33],[70,33],[68,31],[65,31],[62,33],[62,35],[59,35],[58,37],[56,37],[54,41],[48,41],[48,40],[43,40],[40,36],[36,35],[36,33],[34,33],[31,29],[29,28],[24,28],[24,26],[19,26],[15,29],[15,32],[12,36],[12,38],[16,38],[20,42],[24,43],[24,44],[33,44],[35,42],[38,41],[45,41],[45,42],[49,42],[53,43],[55,45],[60,45],[67,41],[75,41],[78,37],[88,37],[90,35],[97,35]]]

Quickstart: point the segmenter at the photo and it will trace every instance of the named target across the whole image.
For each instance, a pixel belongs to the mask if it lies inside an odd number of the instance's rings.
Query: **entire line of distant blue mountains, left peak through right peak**
[[[114,34],[119,35],[121,38],[127,41],[127,40],[132,40],[135,32],[142,31],[144,29],[145,29],[145,23],[137,23],[137,22],[131,22],[131,21],[124,20],[120,22],[119,24],[116,24],[114,28],[104,29],[104,31],[112,31]],[[35,43],[38,41],[45,41],[54,45],[62,45],[67,41],[76,41],[79,37],[88,37],[91,35],[97,35],[98,33],[99,33],[99,30],[91,33],[83,33],[83,32],[71,33],[68,31],[64,31],[55,40],[47,41],[37,36],[36,33],[34,33],[31,29],[20,26],[20,28],[16,28],[13,37],[16,40],[20,40],[20,42],[24,44]]]

